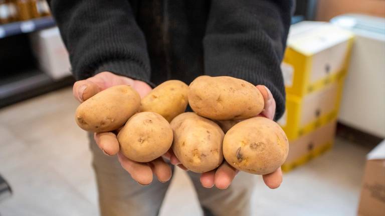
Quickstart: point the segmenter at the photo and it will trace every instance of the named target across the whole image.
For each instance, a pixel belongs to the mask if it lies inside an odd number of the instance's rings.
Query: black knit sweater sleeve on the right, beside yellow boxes
[[[205,74],[264,84],[276,100],[275,120],[285,110],[280,63],[292,0],[212,0],[204,38]]]

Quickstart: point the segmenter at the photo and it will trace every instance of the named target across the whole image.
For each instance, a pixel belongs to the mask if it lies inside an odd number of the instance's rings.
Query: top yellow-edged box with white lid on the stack
[[[293,24],[281,64],[286,92],[303,96],[343,76],[352,39],[350,31],[327,22]]]

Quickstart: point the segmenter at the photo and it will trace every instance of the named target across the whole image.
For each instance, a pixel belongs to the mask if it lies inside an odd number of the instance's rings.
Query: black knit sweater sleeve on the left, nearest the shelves
[[[76,79],[110,71],[146,82],[145,37],[127,0],[49,0]]]

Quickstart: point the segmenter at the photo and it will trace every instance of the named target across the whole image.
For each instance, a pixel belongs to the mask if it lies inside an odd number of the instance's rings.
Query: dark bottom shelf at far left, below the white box
[[[37,69],[25,71],[1,80],[0,108],[52,90],[70,86],[73,83],[74,78],[72,76],[53,80],[47,74]]]

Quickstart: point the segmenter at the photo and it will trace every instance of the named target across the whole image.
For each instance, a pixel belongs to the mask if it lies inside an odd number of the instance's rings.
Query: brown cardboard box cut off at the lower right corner
[[[385,140],[367,155],[361,196],[358,206],[360,216],[385,214]]]

